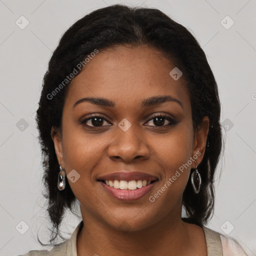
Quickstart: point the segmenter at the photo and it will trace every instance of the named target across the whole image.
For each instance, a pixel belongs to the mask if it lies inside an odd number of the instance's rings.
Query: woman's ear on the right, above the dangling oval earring
[[[208,118],[208,116],[204,116],[202,118],[201,123],[198,125],[198,130],[195,131],[195,134],[194,134],[193,155],[196,154],[196,155],[198,155],[198,157],[196,159],[196,164],[194,162],[193,168],[195,168],[195,165],[198,165],[203,158],[205,146],[206,146],[207,135],[208,135],[208,130],[209,130],[209,118]],[[198,152],[200,152],[200,155]]]

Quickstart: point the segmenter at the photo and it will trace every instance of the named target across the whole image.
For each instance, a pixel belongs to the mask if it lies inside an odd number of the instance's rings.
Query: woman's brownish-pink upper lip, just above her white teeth
[[[118,171],[118,172],[113,172],[110,174],[105,174],[98,179],[101,180],[158,180],[158,178],[152,174],[148,174],[145,172],[141,171],[129,171],[129,172],[124,172],[124,171]]]

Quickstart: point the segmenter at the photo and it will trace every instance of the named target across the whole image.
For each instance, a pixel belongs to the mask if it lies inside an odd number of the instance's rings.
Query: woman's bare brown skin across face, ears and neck
[[[168,178],[196,152],[202,160],[208,133],[208,117],[193,131],[186,82],[169,72],[175,64],[146,45],[116,46],[99,50],[72,79],[66,94],[62,132],[52,127],[51,136],[59,164],[68,174],[80,177],[68,182],[80,202],[83,228],[77,235],[77,255],[207,255],[203,229],[181,220],[182,193],[192,162],[157,198],[149,201]],[[151,96],[178,99],[149,107],[141,102]],[[114,107],[82,102],[83,97],[104,97]],[[157,126],[152,114],[174,118]],[[96,129],[92,120],[105,118]],[[123,131],[118,123],[126,118],[131,126]],[[88,126],[86,126],[86,124]],[[97,123],[96,123],[97,124]],[[164,125],[164,126],[163,126]],[[136,201],[120,201],[107,194],[97,178],[116,171],[142,171],[158,181],[149,194]]]

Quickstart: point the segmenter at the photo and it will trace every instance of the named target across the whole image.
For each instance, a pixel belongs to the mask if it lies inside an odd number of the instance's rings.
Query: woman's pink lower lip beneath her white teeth
[[[106,190],[106,192],[113,197],[115,197],[118,200],[122,201],[132,201],[137,200],[145,196],[149,191],[152,189],[152,187],[156,184],[157,181],[154,181],[153,183],[150,183],[149,185],[142,186],[141,188],[136,188],[134,190],[129,189],[118,189],[114,188],[112,186],[106,185],[104,182],[99,181],[101,186]]]

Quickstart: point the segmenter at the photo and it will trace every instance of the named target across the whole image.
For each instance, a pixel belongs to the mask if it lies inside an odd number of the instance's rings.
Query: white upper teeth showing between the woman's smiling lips
[[[126,190],[136,190],[139,189],[143,186],[147,186],[151,183],[156,182],[157,180],[103,180],[103,179],[99,179],[98,181],[103,182],[104,184],[106,184],[107,186],[111,186],[114,187],[116,189],[126,189]]]

